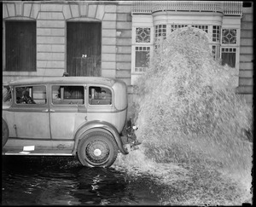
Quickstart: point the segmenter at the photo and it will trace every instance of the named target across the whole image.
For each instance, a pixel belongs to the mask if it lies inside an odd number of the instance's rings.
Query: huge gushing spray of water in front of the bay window
[[[193,29],[172,32],[156,48],[134,99],[142,147],[114,167],[176,186],[176,197],[165,188],[162,204],[241,204],[251,197],[245,132],[253,117],[236,94],[236,70],[213,60],[207,37]]]

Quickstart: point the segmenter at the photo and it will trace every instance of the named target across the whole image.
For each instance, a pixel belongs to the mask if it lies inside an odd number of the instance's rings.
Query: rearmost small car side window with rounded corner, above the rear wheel
[[[89,104],[90,105],[111,105],[111,90],[105,87],[89,87]]]

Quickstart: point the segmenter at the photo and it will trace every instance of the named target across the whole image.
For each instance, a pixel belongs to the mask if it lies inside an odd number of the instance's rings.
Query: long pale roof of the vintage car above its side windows
[[[113,86],[115,82],[123,82],[116,78],[103,78],[103,77],[40,77],[40,78],[26,78],[10,81],[9,85],[22,85],[22,84],[40,84],[40,83],[96,83],[108,86]]]

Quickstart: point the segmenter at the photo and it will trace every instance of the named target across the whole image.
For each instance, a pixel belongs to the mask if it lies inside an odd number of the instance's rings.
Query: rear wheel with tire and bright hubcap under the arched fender
[[[113,136],[102,131],[85,135],[78,146],[79,162],[87,167],[109,167],[118,155]]]

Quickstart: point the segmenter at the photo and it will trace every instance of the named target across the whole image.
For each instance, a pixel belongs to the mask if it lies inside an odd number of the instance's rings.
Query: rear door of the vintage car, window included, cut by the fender
[[[75,129],[86,122],[84,85],[52,84],[49,104],[50,131],[53,140],[73,140]]]

